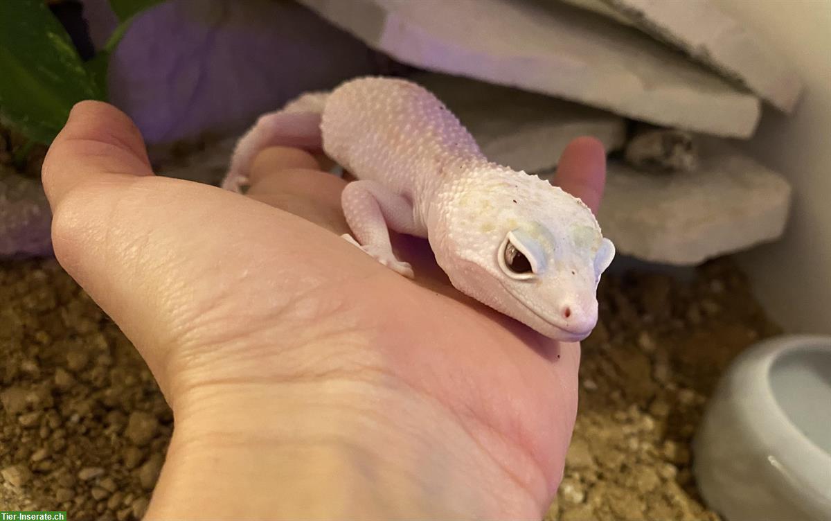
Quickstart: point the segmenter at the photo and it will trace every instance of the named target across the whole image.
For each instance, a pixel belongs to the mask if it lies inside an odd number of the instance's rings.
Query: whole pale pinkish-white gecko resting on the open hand
[[[343,237],[358,248],[411,278],[388,229],[426,237],[461,292],[547,337],[576,342],[592,332],[597,283],[615,253],[592,211],[548,181],[490,163],[411,81],[359,78],[262,116],[238,142],[223,187],[238,191],[268,145],[312,145],[310,132],[358,179],[342,194],[355,238]]]

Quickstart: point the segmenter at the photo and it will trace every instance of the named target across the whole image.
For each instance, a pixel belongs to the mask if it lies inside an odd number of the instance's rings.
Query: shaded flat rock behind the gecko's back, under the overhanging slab
[[[424,73],[411,80],[444,101],[489,160],[514,170],[552,169],[581,135],[596,137],[607,152],[626,140],[622,117],[577,103],[460,76]]]

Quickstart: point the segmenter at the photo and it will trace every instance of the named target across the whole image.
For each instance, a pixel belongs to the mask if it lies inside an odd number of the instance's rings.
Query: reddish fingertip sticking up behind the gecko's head
[[[572,140],[560,156],[554,184],[597,214],[606,184],[606,150],[600,140],[588,136]]]

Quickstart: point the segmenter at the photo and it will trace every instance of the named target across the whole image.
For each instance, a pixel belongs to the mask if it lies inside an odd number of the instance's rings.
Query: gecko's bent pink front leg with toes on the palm
[[[349,234],[342,237],[387,268],[413,278],[410,264],[398,260],[392,253],[389,232],[393,229],[420,237],[427,234],[425,226],[416,223],[412,203],[383,184],[368,179],[347,184],[341,203],[347,224],[357,240]]]

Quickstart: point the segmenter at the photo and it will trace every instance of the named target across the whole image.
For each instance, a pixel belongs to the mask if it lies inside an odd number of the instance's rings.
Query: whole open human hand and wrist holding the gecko
[[[605,155],[558,184],[597,209]],[[43,182],[61,265],[147,361],[175,416],[146,519],[538,518],[563,472],[578,344],[339,238],[342,179],[264,150],[247,196],[156,177],[138,130],[73,109]]]

